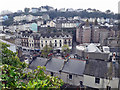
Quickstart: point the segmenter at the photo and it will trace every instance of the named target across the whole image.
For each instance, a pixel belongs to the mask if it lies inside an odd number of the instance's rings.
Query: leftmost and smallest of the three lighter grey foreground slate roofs
[[[47,62],[46,58],[41,58],[41,57],[37,57],[31,64],[30,64],[30,68],[31,69],[36,69],[37,66],[44,66]]]

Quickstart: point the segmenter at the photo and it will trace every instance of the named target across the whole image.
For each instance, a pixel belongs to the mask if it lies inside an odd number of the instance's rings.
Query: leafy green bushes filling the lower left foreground
[[[63,81],[58,77],[51,77],[44,73],[45,67],[38,66],[37,69],[29,70],[25,63],[20,62],[16,53],[8,50],[9,45],[0,43],[3,64],[0,66],[0,85],[2,88],[60,88]]]

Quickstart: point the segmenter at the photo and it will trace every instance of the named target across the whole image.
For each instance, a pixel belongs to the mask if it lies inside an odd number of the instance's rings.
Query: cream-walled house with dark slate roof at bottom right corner
[[[86,62],[83,85],[102,90],[117,89],[119,85],[118,63],[89,60]]]

